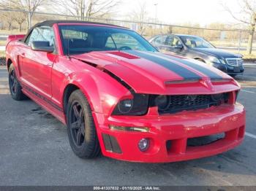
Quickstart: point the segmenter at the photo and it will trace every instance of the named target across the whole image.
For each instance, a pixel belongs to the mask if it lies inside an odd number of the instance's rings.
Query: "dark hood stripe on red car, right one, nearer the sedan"
[[[159,54],[159,55],[165,58],[169,58],[170,60],[173,60],[173,61],[184,63],[185,65],[191,67],[192,69],[196,69],[197,71],[200,71],[200,73],[205,74],[207,77],[211,79],[223,79],[223,77],[220,76],[219,74],[215,73],[214,71],[211,71],[210,69],[206,69],[205,67],[200,66],[197,63],[192,63],[192,62],[186,61],[185,59],[181,61],[181,58],[175,58],[173,56],[171,57],[171,55],[165,55],[165,54]]]

